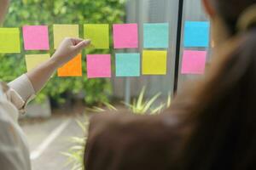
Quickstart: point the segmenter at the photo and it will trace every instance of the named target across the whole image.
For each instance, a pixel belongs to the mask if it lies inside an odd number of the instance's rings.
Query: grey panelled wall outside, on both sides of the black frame
[[[142,76],[137,78],[119,78],[113,79],[113,95],[115,97],[126,99],[130,96],[137,96],[143,86],[147,87],[146,96],[152,97],[154,94],[161,93],[165,99],[174,87],[175,56],[177,42],[177,15],[178,0],[130,0],[126,8],[127,23],[138,23],[140,48],[131,50],[131,52],[143,52],[143,23],[162,23],[168,22],[170,25],[170,43],[167,57],[167,75],[166,76]],[[183,24],[185,20],[206,21],[207,16],[201,5],[200,0],[184,0],[183,6]],[[206,50],[206,48],[191,48],[195,50]],[[163,50],[163,49],[160,49]],[[189,79],[195,79],[195,75],[182,75],[181,65],[183,59],[183,30],[180,53],[180,65],[178,74],[178,89],[182,83]],[[118,51],[116,51],[118,52]],[[129,52],[129,51],[126,51]]]

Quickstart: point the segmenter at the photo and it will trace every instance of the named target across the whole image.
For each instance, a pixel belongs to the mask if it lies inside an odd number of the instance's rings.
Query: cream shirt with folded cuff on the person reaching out
[[[28,144],[18,118],[35,91],[26,75],[8,86],[0,84],[0,169],[31,170]]]

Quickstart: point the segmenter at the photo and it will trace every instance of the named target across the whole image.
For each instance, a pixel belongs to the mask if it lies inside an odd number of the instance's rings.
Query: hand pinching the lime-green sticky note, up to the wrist
[[[51,59],[53,59],[56,67],[61,67],[81,53],[82,49],[88,45],[90,45],[90,40],[67,37],[61,42]]]

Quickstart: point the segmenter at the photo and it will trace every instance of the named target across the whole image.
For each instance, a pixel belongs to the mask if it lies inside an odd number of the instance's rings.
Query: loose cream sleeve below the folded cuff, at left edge
[[[17,122],[18,110],[6,100],[1,91],[0,89],[0,169],[30,170],[28,144]]]

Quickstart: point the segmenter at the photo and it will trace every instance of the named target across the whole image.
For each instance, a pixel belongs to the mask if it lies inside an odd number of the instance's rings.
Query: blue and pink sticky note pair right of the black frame
[[[201,75],[205,73],[207,50],[210,39],[210,22],[185,21],[183,39],[182,74]],[[195,48],[203,48],[198,50]]]

